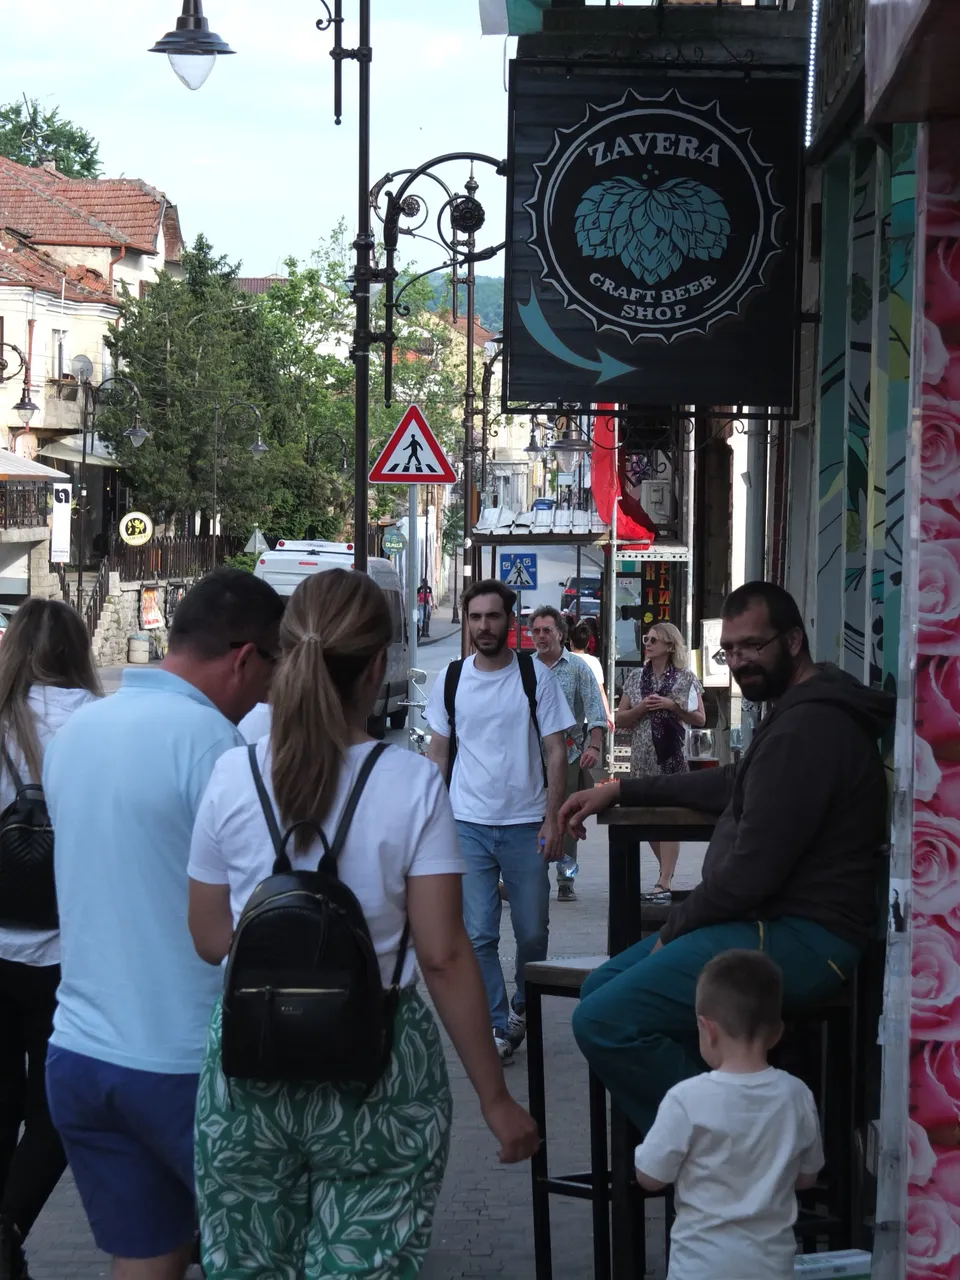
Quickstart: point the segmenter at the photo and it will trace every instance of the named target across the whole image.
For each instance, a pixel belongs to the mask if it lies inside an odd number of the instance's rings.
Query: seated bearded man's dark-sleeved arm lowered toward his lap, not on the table
[[[836,741],[828,732],[818,741],[812,751],[809,737],[796,727],[764,735],[744,778],[733,847],[671,910],[662,942],[709,924],[749,919],[783,884],[820,829],[837,785]]]

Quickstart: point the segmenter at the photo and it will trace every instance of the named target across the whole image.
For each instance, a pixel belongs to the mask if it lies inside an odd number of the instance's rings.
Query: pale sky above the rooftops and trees
[[[333,4],[330,5],[333,8]],[[357,0],[343,0],[347,47]],[[447,151],[507,148],[504,40],[481,37],[476,0],[372,0],[371,177]],[[0,102],[22,93],[100,143],[104,177],[142,178],[177,205],[184,238],[202,232],[243,275],[305,260],[340,218],[357,219],[357,68],[343,68],[333,122],[330,32],[319,0],[205,0],[210,28],[236,50],[196,92],[147,50],[180,0],[32,0],[4,6]],[[515,45],[511,41],[511,45]],[[512,49],[511,49],[512,52]],[[445,170],[462,189],[466,166]],[[506,184],[477,170],[489,238],[503,238]],[[439,250],[419,244],[420,269]],[[483,264],[497,274],[499,264]]]

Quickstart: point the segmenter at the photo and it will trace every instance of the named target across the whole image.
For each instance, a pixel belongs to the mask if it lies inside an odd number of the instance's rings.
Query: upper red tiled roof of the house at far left
[[[38,244],[125,246],[155,253],[161,224],[168,261],[179,261],[177,209],[140,178],[65,178],[0,156],[0,225]]]

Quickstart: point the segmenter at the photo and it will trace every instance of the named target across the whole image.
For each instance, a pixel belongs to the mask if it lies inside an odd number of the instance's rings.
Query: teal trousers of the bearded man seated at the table
[[[668,1089],[707,1070],[698,1050],[696,979],[722,951],[765,951],[783,972],[787,1009],[815,1005],[854,973],[859,950],[813,920],[742,920],[694,929],[650,955],[655,937],[584,983],[573,1034],[611,1098],[641,1133]]]

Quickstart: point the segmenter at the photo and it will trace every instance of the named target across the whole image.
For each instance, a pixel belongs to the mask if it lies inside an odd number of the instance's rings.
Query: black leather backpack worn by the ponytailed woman
[[[312,823],[294,823],[280,836],[256,746],[250,748],[276,860],[243,909],[227,961],[221,1065],[229,1078],[370,1089],[387,1069],[410,923],[384,991],[364,910],[337,869],[364,787],[385,750],[380,742],[364,760],[329,845]],[[302,826],[323,841],[315,872],[294,872],[287,855]]]

